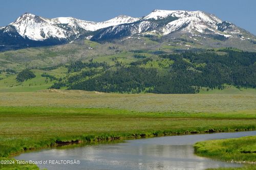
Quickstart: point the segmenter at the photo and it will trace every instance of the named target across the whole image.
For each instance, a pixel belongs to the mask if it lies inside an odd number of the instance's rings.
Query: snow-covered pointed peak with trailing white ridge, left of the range
[[[25,13],[7,26],[14,27],[18,34],[30,40],[43,41],[49,38],[73,39],[78,38],[81,32],[96,31],[102,28],[117,26],[123,23],[135,22],[139,18],[120,15],[104,22],[92,22],[73,17],[58,17],[48,19],[34,14]]]

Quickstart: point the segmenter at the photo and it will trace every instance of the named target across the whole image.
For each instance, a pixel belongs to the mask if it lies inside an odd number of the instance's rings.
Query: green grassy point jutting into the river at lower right
[[[195,152],[199,156],[240,163],[256,163],[256,136],[197,142]],[[218,170],[256,169],[256,165]]]

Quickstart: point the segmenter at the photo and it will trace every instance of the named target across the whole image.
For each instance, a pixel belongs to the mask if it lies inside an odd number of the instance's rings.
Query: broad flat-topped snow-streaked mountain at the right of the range
[[[94,35],[94,40],[111,37],[131,36],[133,34],[168,35],[175,32],[191,34],[213,34],[226,38],[242,34],[242,29],[231,22],[222,21],[212,14],[202,11],[168,11],[154,10],[142,17],[140,22],[130,25],[118,25],[102,29]],[[124,32],[125,30],[125,32]]]

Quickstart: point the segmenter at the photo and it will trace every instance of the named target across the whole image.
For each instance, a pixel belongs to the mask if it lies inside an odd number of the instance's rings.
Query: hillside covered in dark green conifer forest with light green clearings
[[[135,56],[137,57],[137,56]],[[256,87],[256,53],[229,49],[159,55],[130,64],[76,62],[69,71],[87,70],[52,88],[121,93],[196,93],[202,87],[222,89],[224,84]]]

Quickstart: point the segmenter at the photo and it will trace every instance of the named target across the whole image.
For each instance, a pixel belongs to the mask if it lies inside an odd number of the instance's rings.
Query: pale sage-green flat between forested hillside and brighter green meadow
[[[113,108],[139,112],[255,113],[255,94],[119,94],[41,90],[1,92],[0,106]]]

